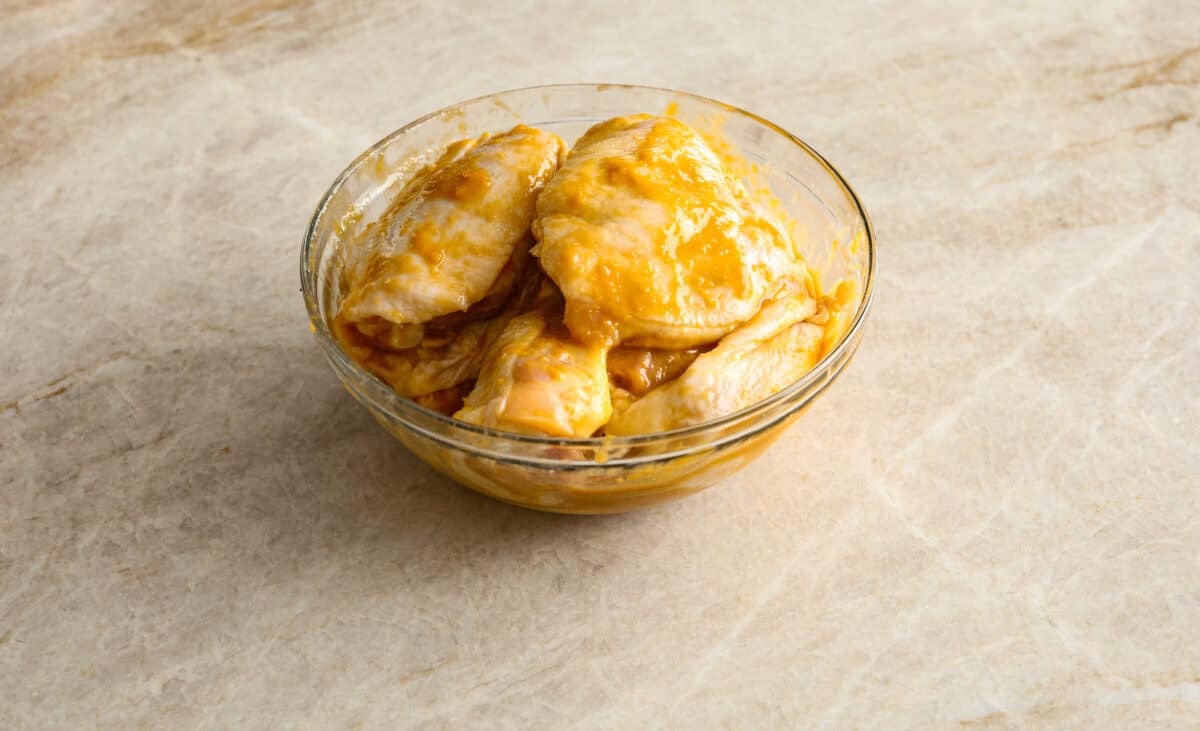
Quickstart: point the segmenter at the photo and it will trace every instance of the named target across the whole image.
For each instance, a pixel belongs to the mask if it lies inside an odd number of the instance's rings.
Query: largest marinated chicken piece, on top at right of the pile
[[[533,233],[584,342],[710,343],[806,276],[782,227],[671,118],[588,130],[538,198]]]

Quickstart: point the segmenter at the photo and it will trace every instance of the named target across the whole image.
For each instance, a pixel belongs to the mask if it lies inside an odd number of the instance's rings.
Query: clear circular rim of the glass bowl
[[[391,140],[404,134],[413,127],[416,127],[418,125],[421,125],[425,121],[434,116],[438,116],[439,114],[444,114],[451,109],[456,109],[467,104],[484,102],[494,97],[503,97],[510,94],[517,94],[524,91],[553,92],[556,90],[564,90],[564,89],[577,89],[577,90],[638,89],[643,91],[658,91],[658,92],[688,97],[701,103],[713,104],[725,112],[744,116],[758,125],[762,125],[763,127],[770,130],[772,132],[784,137],[792,144],[797,145],[806,155],[812,157],[838,182],[838,185],[846,192],[848,198],[853,202],[854,209],[857,210],[858,216],[863,221],[863,228],[866,232],[868,266],[866,266],[866,276],[863,282],[863,294],[862,298],[859,299],[858,310],[854,312],[854,318],[851,322],[850,328],[847,328],[846,332],[842,335],[841,342],[839,342],[829,353],[824,355],[824,358],[817,361],[816,365],[814,365],[798,381],[776,391],[775,394],[772,394],[770,396],[763,399],[762,401],[757,401],[740,411],[726,414],[718,419],[712,419],[709,421],[703,421],[701,424],[695,424],[692,426],[685,426],[683,429],[676,429],[665,432],[655,432],[650,435],[637,435],[629,437],[617,437],[617,436],[587,437],[587,438],[540,437],[534,435],[522,435],[498,429],[490,429],[486,426],[478,426],[475,424],[468,424],[466,421],[460,421],[451,417],[446,417],[432,409],[425,408],[424,406],[416,403],[410,399],[404,399],[403,396],[394,391],[391,387],[389,387],[386,383],[377,378],[370,371],[367,371],[358,362],[355,362],[352,358],[349,358],[337,344],[336,338],[329,330],[329,324],[320,316],[320,302],[318,300],[319,272],[317,271],[317,269],[319,269],[320,266],[320,263],[316,262],[316,258],[313,257],[313,247],[316,246],[314,236],[317,233],[318,223],[320,222],[322,216],[325,214],[325,210],[329,206],[330,202],[341,190],[343,182],[352,174],[354,174],[355,170],[362,167],[378,150],[391,143]],[[871,226],[870,216],[866,214],[866,209],[863,206],[863,203],[859,199],[858,193],[854,192],[854,188],[851,187],[850,182],[846,181],[842,174],[838,172],[838,169],[833,167],[833,164],[828,160],[826,160],[823,155],[812,149],[803,139],[800,139],[796,134],[792,134],[787,130],[780,127],[775,122],[763,119],[762,116],[758,116],[752,112],[742,109],[740,107],[736,107],[733,104],[728,104],[698,94],[691,94],[689,91],[679,91],[677,89],[647,86],[640,84],[608,84],[608,83],[541,84],[534,86],[521,86],[516,89],[505,89],[503,91],[494,91],[492,94],[476,96],[469,100],[456,102],[442,109],[430,112],[428,114],[425,114],[424,116],[420,116],[408,122],[407,125],[397,128],[396,131],[390,132],[389,134],[383,137],[379,142],[374,143],[373,145],[364,150],[361,154],[359,154],[359,156],[355,157],[329,186],[329,190],[325,191],[325,194],[322,196],[320,202],[317,204],[317,209],[316,211],[313,211],[312,218],[308,221],[308,227],[305,230],[304,242],[300,250],[300,286],[304,293],[305,306],[308,311],[308,320],[312,324],[313,336],[317,338],[317,342],[320,343],[322,349],[325,352],[326,358],[330,359],[330,361],[335,365],[337,370],[340,370],[348,377],[353,377],[356,381],[356,383],[354,384],[354,391],[356,391],[356,395],[365,397],[373,408],[384,412],[392,419],[404,423],[406,425],[418,430],[419,432],[426,433],[427,436],[433,436],[433,435],[431,435],[421,425],[415,424],[413,419],[409,418],[409,414],[418,415],[421,419],[427,419],[437,424],[440,424],[452,432],[457,431],[491,439],[500,439],[506,442],[524,443],[540,447],[565,447],[565,448],[611,450],[622,447],[634,447],[638,444],[647,444],[654,442],[670,442],[679,438],[695,437],[704,431],[719,430],[722,426],[736,424],[743,420],[748,424],[745,431],[754,432],[756,427],[756,420],[755,420],[756,415],[769,412],[773,407],[784,401],[802,396],[815,383],[817,383],[818,379],[822,378],[829,364],[841,362],[846,354],[846,350],[857,347],[860,331],[866,323],[866,314],[870,311],[871,302],[875,299],[875,259],[876,259],[875,229]],[[317,269],[310,266],[311,263],[316,263]],[[821,390],[823,390],[823,388]],[[739,436],[746,436],[746,435],[743,433]],[[444,437],[439,438],[439,441],[443,439]],[[726,439],[721,441],[725,442]],[[574,460],[564,460],[564,462],[571,462],[571,461]]]

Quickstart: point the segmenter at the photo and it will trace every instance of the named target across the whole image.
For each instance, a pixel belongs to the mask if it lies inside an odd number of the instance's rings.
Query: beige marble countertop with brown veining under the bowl
[[[0,727],[1194,727],[1194,7],[450,5],[6,6]],[[881,248],[761,461],[595,519],[406,453],[296,271],[377,138],[574,80],[778,121]]]

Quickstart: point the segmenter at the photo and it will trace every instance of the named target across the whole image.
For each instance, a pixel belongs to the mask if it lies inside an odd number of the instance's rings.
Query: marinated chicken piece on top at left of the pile
[[[421,323],[503,302],[520,276],[502,274],[523,270],[536,197],[564,154],[557,136],[523,125],[450,145],[356,244],[341,326],[403,349],[420,342]]]

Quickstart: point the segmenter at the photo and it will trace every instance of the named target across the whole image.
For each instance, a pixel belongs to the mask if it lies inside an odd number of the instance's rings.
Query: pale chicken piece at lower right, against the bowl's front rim
[[[624,411],[610,435],[670,431],[732,414],[794,383],[816,362],[824,330],[804,322],[817,312],[806,295],[768,302],[688,370]]]

